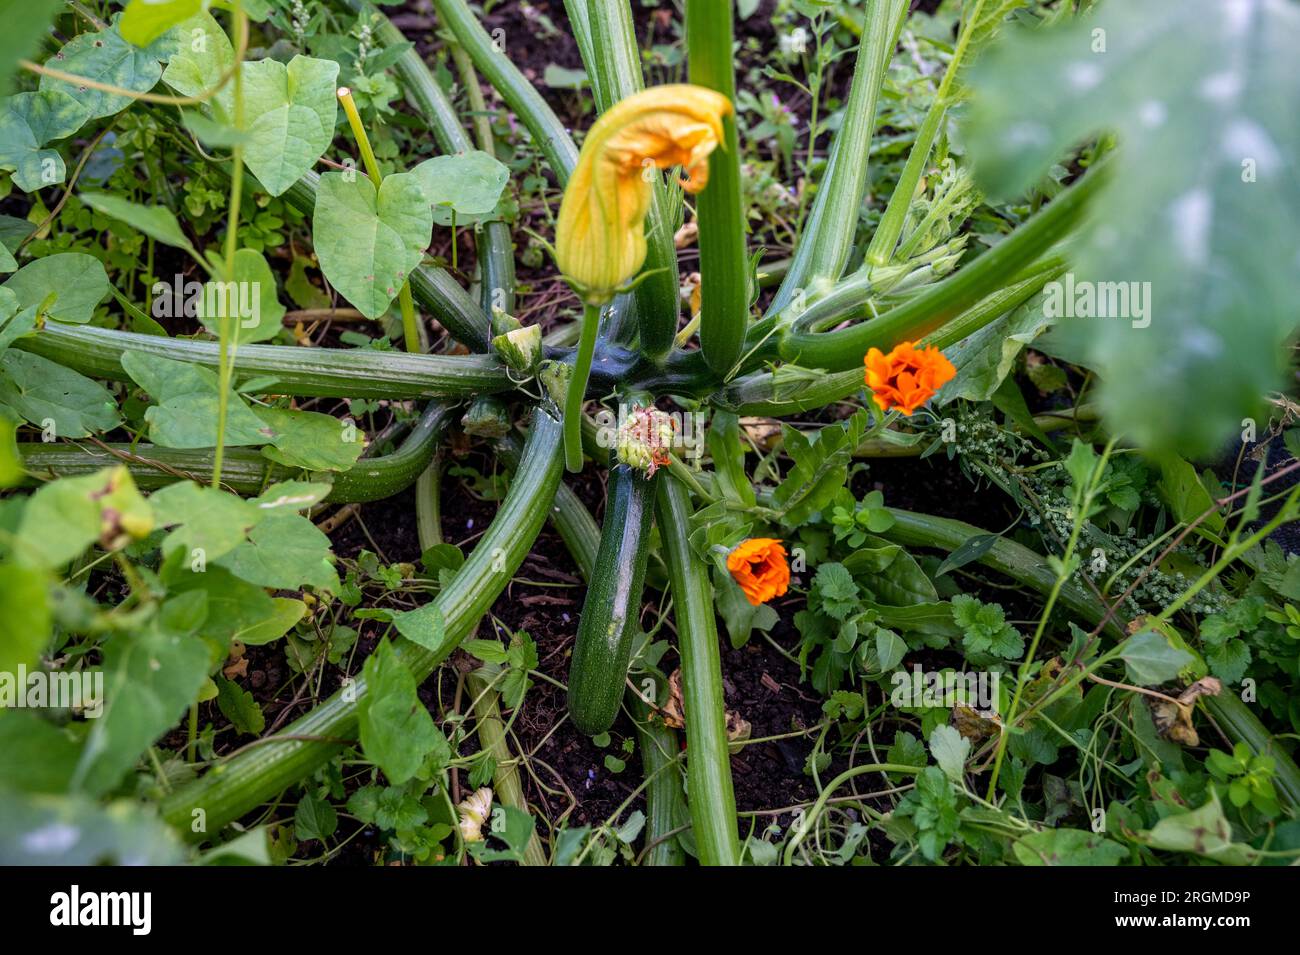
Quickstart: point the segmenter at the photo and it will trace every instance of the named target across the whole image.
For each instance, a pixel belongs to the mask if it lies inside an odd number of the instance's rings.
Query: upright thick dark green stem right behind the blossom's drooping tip
[[[732,0],[686,1],[690,82],[736,100]],[[708,186],[696,197],[699,222],[699,347],[708,366],[727,376],[740,360],[749,324],[749,262],[740,188],[734,114],[723,118],[723,143],[708,157]]]

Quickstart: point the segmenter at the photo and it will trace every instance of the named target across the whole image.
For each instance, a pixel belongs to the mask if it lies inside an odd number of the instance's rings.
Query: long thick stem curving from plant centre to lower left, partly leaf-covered
[[[560,424],[538,408],[500,509],[434,600],[446,624],[446,639],[436,650],[410,641],[398,643],[398,654],[417,681],[433,673],[473,633],[510,583],[546,521],[562,470]],[[222,760],[198,781],[169,794],[162,800],[164,819],[187,838],[203,841],[308,776],[356,737],[356,702],[365,691],[365,678],[360,677],[290,724],[282,738],[273,737]]]

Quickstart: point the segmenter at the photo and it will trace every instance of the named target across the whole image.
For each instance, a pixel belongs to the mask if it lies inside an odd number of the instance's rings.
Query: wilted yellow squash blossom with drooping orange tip
[[[656,86],[615,104],[588,133],[564,190],[556,262],[590,304],[608,301],[641,270],[650,168],[681,166],[682,188],[708,182],[708,153],[723,140],[731,100],[689,83]]]

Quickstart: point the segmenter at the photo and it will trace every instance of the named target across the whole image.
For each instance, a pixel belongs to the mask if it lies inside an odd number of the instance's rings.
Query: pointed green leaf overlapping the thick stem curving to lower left
[[[411,676],[389,641],[365,657],[365,695],[358,702],[361,750],[389,782],[400,785],[415,776],[424,758],[439,742],[446,745],[433,717],[416,695]]]

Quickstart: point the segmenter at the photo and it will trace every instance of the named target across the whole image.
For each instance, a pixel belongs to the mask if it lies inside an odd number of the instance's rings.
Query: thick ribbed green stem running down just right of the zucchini
[[[723,699],[722,656],[708,569],[690,550],[690,499],[672,474],[659,478],[656,522],[677,622],[686,717],[686,789],[696,851],[705,865],[738,865],[736,794]]]

